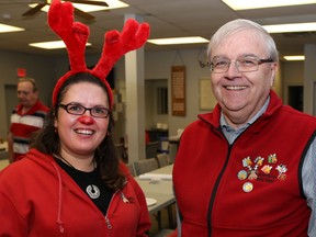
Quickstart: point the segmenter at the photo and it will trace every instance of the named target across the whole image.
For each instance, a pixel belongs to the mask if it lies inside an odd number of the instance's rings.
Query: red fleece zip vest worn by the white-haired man
[[[267,112],[229,146],[219,132],[219,116],[217,105],[214,112],[200,115],[181,137],[173,184],[183,216],[182,237],[306,237],[311,211],[301,193],[300,162],[315,136],[316,119],[283,106],[271,92]],[[276,162],[268,163],[273,154]],[[248,171],[242,166],[247,157],[264,158],[256,180],[238,179],[240,170]],[[264,165],[272,166],[268,174],[261,170]],[[279,165],[287,168],[283,180]],[[248,193],[242,191],[246,182],[253,184]]]

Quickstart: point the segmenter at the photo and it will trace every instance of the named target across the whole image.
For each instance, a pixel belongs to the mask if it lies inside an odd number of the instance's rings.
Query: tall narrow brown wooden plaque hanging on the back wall
[[[185,67],[171,68],[171,108],[173,116],[185,116]]]

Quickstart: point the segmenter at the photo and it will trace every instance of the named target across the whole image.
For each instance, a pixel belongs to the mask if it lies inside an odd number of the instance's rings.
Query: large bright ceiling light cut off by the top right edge
[[[223,0],[229,8],[238,10],[314,4],[316,0]]]

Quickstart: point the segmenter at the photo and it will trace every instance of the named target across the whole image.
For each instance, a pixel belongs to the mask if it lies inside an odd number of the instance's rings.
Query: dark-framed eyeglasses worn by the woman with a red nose
[[[90,111],[91,116],[106,119],[111,111],[108,108],[95,106],[95,108],[84,108],[81,104],[69,103],[69,104],[59,104],[58,106],[63,108],[67,113],[74,115],[82,115],[86,111]]]

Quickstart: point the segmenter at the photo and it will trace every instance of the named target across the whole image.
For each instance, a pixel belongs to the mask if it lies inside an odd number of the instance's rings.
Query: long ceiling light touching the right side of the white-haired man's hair
[[[312,32],[316,31],[316,22],[262,25],[269,33]]]

